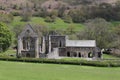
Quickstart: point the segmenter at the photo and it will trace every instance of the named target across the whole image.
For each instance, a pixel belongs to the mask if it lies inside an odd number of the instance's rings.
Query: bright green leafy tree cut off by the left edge
[[[12,43],[12,34],[8,27],[0,22],[0,52],[7,50]]]

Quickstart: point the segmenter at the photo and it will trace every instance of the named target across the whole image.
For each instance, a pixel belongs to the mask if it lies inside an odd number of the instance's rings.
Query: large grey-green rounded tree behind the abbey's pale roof
[[[111,32],[111,24],[102,18],[88,20],[85,23],[85,29],[78,34],[79,39],[96,40],[100,48],[109,48],[110,43],[114,41]]]

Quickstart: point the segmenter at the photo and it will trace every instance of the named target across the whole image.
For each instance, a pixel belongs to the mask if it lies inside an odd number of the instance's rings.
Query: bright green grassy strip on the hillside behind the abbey
[[[17,16],[14,17],[13,22],[10,24],[11,27],[15,27],[17,25],[25,25],[27,23],[31,23],[31,24],[39,24],[39,25],[43,25],[43,26],[48,26],[50,27],[50,29],[67,29],[69,26],[73,26],[75,27],[75,30],[79,31],[81,29],[83,29],[83,25],[82,24],[78,24],[78,23],[65,23],[62,19],[57,18],[55,22],[53,23],[47,23],[44,21],[44,18],[41,17],[32,17],[31,21],[29,22],[23,22],[21,21],[21,17]]]

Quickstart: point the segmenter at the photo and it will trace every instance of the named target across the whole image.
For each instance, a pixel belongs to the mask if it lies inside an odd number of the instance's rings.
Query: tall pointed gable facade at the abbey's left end
[[[29,24],[18,36],[17,56],[39,58],[38,35]]]

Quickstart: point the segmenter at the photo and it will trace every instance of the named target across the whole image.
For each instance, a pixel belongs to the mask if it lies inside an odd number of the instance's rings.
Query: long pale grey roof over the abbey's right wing
[[[66,47],[96,47],[95,40],[66,40]]]

